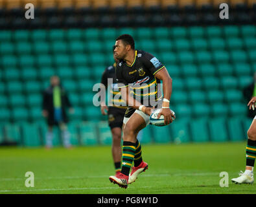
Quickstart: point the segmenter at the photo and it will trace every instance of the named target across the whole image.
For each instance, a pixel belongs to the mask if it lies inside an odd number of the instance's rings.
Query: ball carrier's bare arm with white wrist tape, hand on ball
[[[158,118],[163,115],[165,117],[165,124],[170,124],[172,122],[172,117],[174,114],[170,111],[170,96],[172,94],[172,78],[170,78],[169,73],[166,68],[161,69],[155,74],[156,78],[162,80],[163,82],[163,104],[161,112],[158,114]],[[169,101],[169,102],[168,102]]]

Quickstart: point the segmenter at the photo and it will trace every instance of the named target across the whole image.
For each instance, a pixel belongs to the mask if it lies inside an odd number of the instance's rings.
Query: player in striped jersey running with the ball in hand
[[[149,117],[154,107],[161,107],[165,124],[172,122],[174,114],[169,103],[172,93],[172,78],[165,66],[148,52],[135,50],[132,36],[123,34],[115,41],[115,56],[119,60],[115,71],[122,98],[128,105],[123,120],[122,168],[110,181],[121,188],[127,188],[137,176],[148,168],[141,156],[141,145],[136,136],[150,124]],[[163,95],[159,84],[163,82]],[[130,168],[134,167],[130,173]]]

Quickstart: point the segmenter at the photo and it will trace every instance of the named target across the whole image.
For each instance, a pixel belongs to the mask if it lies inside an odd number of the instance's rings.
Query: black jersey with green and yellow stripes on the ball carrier
[[[160,100],[162,98],[161,83],[155,74],[165,66],[152,54],[143,50],[135,50],[135,58],[132,65],[120,60],[117,63],[115,74],[119,89],[130,87],[132,96],[143,105],[150,106],[149,100]]]

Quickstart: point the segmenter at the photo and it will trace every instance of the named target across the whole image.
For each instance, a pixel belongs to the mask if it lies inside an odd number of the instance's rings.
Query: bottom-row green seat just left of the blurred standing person
[[[23,133],[23,144],[26,147],[38,147],[41,145],[38,125],[22,123],[21,128]]]

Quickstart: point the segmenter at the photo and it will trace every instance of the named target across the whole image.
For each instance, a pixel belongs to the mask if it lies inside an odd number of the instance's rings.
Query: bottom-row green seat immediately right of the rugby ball
[[[178,117],[178,116],[177,116]],[[191,141],[191,133],[189,132],[189,121],[185,119],[175,120],[171,126],[170,131],[174,143],[181,144]]]

